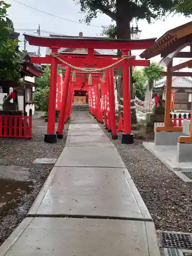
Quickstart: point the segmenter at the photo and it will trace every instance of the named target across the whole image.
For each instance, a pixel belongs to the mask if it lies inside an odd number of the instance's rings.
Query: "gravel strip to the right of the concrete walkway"
[[[111,138],[108,132],[105,133]],[[134,145],[123,145],[121,133],[118,135],[119,139],[113,143],[150,211],[156,229],[192,232],[192,186],[185,184],[145,150],[141,140],[136,140]]]

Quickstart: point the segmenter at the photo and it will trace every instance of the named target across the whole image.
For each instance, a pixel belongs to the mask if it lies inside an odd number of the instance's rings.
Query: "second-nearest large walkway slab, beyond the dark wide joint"
[[[47,191],[41,189],[29,216],[152,221],[141,196],[133,193],[135,187],[127,182],[130,179],[124,168],[58,167],[50,185],[46,184]]]

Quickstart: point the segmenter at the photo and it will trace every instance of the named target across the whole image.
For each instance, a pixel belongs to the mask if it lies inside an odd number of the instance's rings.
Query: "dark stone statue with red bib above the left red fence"
[[[13,103],[10,100],[13,99]],[[18,96],[17,90],[14,89],[8,96],[4,96],[3,99],[3,110],[4,111],[18,111]]]

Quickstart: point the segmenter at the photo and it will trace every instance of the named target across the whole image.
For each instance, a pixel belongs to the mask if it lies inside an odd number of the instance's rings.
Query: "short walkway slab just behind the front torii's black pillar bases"
[[[68,136],[102,136],[106,135],[102,130],[99,129],[90,129],[90,130],[80,130],[80,129],[72,129],[68,131]]]

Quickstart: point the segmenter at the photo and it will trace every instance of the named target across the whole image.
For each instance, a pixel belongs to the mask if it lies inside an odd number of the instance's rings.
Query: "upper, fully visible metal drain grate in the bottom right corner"
[[[189,234],[177,232],[161,232],[162,247],[192,250],[192,241]]]

